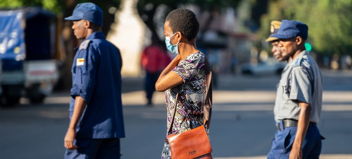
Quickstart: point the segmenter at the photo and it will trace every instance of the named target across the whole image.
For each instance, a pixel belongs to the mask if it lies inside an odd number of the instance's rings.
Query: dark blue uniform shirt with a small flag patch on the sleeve
[[[81,96],[88,103],[78,122],[76,138],[125,137],[119,49],[108,42],[102,32],[90,34],[75,49],[70,118],[76,96]]]

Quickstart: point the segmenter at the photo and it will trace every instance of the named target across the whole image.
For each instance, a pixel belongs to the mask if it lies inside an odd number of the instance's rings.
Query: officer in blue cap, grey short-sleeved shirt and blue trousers
[[[323,75],[304,47],[308,26],[299,21],[283,20],[276,34],[283,58],[291,57],[277,86],[274,107],[278,131],[268,159],[319,158],[321,135],[319,122]]]

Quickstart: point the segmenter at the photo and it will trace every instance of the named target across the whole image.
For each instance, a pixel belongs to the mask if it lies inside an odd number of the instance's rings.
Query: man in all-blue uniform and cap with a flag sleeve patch
[[[65,158],[120,158],[125,137],[121,102],[120,51],[105,39],[102,11],[93,3],[78,4],[72,16],[74,34],[84,39],[73,66],[70,124],[64,138]]]

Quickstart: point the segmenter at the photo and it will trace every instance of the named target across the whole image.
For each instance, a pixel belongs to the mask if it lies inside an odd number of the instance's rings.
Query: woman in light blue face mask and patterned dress
[[[164,24],[166,47],[177,56],[158,78],[155,88],[165,91],[167,130],[174,111],[176,94],[178,102],[172,129],[169,134],[186,132],[203,124],[203,105],[206,98],[205,55],[195,45],[199,23],[188,9],[175,9]],[[170,146],[165,139],[162,159],[170,159]]]

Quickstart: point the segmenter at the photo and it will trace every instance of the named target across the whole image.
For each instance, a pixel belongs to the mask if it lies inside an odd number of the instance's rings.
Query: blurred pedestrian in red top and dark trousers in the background
[[[158,45],[157,37],[152,37],[151,45],[147,46],[141,58],[141,64],[145,70],[145,92],[148,105],[152,104],[152,97],[155,91],[155,83],[163,69],[171,62],[170,57],[163,47]]]

